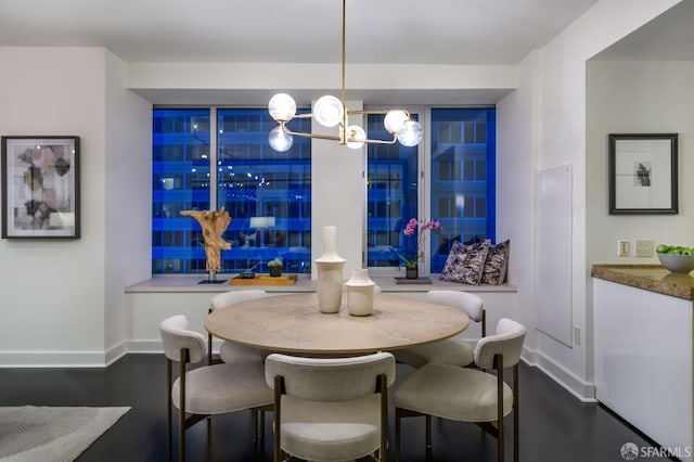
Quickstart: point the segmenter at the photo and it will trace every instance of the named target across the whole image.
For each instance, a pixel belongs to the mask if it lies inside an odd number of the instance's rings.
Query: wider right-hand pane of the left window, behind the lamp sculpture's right
[[[267,141],[277,125],[267,110],[219,110],[217,118],[217,203],[233,218],[222,271],[268,272],[266,262],[279,257],[286,272],[310,272],[310,140],[296,137],[279,153]]]

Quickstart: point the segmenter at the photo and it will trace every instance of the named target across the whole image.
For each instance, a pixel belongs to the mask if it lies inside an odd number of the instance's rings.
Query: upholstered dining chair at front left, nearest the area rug
[[[272,390],[266,385],[262,362],[204,364],[189,370],[189,363],[204,362],[205,337],[189,330],[188,318],[172,316],[159,323],[159,334],[166,356],[167,383],[167,455],[170,460],[172,442],[172,411],[179,421],[179,461],[185,458],[185,429],[214,414],[240,410],[271,410]],[[179,374],[174,380],[174,362]],[[208,422],[209,424],[210,422]],[[257,426],[254,427],[254,439]]]

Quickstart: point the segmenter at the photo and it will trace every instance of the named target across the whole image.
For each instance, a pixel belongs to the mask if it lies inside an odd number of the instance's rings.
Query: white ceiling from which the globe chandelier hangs
[[[517,64],[597,0],[347,0],[347,61]],[[339,0],[0,0],[0,47],[127,62],[338,63]]]

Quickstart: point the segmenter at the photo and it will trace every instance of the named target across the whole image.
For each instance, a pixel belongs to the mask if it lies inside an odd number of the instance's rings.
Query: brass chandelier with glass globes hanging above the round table
[[[324,95],[313,104],[313,112],[307,114],[296,114],[296,102],[286,93],[278,93],[270,99],[268,111],[270,116],[278,121],[278,126],[270,130],[268,142],[273,150],[284,152],[292,147],[294,137],[317,138],[321,140],[337,141],[348,147],[359,149],[364,143],[373,144],[395,144],[397,141],[404,146],[415,146],[422,140],[422,125],[412,119],[406,110],[374,110],[374,111],[349,111],[345,103],[345,3],[343,0],[343,85],[342,99],[333,95]],[[385,129],[393,136],[390,140],[370,140],[367,132],[358,125],[349,125],[350,115],[385,114]],[[293,118],[313,119],[323,127],[337,126],[338,132],[335,136],[320,133],[301,133],[292,131],[287,123]]]

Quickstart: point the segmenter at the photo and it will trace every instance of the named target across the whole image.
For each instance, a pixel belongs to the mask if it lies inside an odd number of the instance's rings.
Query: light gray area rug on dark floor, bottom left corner
[[[130,408],[0,408],[2,462],[68,462]]]

